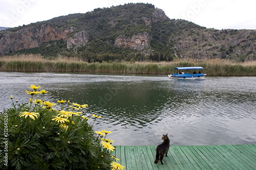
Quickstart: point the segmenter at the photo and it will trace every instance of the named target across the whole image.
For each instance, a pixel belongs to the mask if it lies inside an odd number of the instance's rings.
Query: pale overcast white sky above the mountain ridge
[[[0,27],[17,27],[127,3],[153,4],[170,19],[185,19],[206,28],[256,30],[253,0],[0,0]]]

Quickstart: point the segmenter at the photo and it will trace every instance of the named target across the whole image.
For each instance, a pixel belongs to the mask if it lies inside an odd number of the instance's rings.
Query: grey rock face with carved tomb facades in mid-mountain
[[[119,36],[115,39],[114,45],[134,50],[142,50],[143,48],[150,47],[151,39],[150,34],[143,32],[133,35],[132,38]]]

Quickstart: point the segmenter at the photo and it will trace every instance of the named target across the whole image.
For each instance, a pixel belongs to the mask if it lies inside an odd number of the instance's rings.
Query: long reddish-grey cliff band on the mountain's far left
[[[75,27],[58,29],[50,24],[40,27],[29,27],[16,32],[7,32],[0,39],[0,53],[8,54],[10,51],[18,51],[40,46],[43,42],[50,40],[67,39],[75,31]]]

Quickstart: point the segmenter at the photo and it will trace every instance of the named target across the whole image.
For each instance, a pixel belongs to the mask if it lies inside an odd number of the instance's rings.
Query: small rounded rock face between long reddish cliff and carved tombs
[[[79,31],[67,39],[67,48],[84,46],[89,41],[89,37],[86,31]]]

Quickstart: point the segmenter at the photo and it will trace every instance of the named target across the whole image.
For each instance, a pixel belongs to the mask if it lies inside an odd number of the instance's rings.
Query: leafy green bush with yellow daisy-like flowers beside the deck
[[[57,101],[61,109],[56,110],[55,103],[44,100],[48,91],[38,91],[40,86],[35,85],[30,88],[33,91],[26,91],[31,95],[30,103],[18,104],[11,96],[13,108],[0,114],[1,132],[7,129],[4,120],[8,120],[8,132],[0,134],[0,169],[124,168],[111,155],[113,141],[106,138],[111,131],[94,132],[89,125],[83,110],[88,105],[61,100]],[[66,103],[68,109],[64,110]],[[101,118],[92,116],[95,120]],[[3,155],[8,155],[7,161]]]

